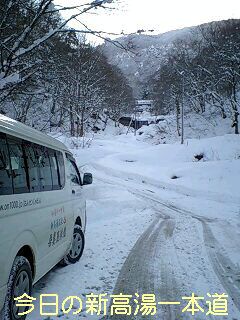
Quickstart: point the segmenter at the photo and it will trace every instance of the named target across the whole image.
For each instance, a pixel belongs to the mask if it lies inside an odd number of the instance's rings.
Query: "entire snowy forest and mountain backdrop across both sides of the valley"
[[[76,7],[64,20],[61,12],[69,8],[52,0],[0,0],[1,114],[79,137],[99,130],[102,115],[117,122],[134,113],[135,99],[147,98],[154,115],[175,116],[178,135],[183,106],[184,114],[228,119],[239,133],[240,20],[93,46],[86,40],[91,30],[77,32],[68,22],[101,3]],[[104,49],[107,43],[113,49]]]

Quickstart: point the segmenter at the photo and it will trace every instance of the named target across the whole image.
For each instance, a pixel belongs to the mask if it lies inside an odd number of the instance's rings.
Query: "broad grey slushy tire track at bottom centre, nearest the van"
[[[157,301],[175,301],[182,292],[174,275],[174,263],[167,251],[169,246],[174,250],[172,236],[175,229],[175,220],[161,214],[153,221],[147,230],[140,236],[120,273],[113,294],[154,293]],[[169,259],[166,259],[168,256]],[[136,304],[132,304],[135,310]],[[159,309],[159,306],[158,306]],[[161,319],[183,319],[179,306],[161,306]],[[131,319],[159,319],[155,316],[132,316]],[[108,319],[126,319],[126,316],[114,315]],[[185,317],[186,319],[186,317]]]

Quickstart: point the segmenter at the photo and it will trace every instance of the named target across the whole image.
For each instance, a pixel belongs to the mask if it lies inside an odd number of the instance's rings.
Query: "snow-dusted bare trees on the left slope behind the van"
[[[71,19],[98,6],[76,7]],[[2,0],[0,8],[2,114],[41,131],[83,136],[103,111],[117,118],[132,107],[122,72],[86,41],[86,30],[71,30],[61,17],[68,8],[50,0]]]

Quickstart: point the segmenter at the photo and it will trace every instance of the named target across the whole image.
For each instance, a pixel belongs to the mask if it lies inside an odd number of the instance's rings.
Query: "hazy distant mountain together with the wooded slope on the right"
[[[105,43],[108,60],[121,68],[138,99],[154,100],[155,115],[174,116],[170,126],[178,135],[182,106],[189,125],[201,118],[210,126],[214,119],[228,128],[225,133],[239,132],[239,19],[118,41],[128,52]]]

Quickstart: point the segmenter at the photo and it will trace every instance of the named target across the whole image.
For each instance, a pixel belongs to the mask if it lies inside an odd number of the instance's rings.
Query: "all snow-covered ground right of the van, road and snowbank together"
[[[58,293],[60,301],[69,295],[86,301],[91,292],[154,292],[166,301],[192,292],[226,292],[229,317],[222,319],[240,319],[238,136],[151,146],[132,134],[111,132],[72,152],[81,171],[94,175],[93,185],[83,189],[86,248],[79,263],[44,277],[35,286],[36,297]],[[60,309],[62,319],[76,319]],[[180,307],[162,308],[158,319],[169,319],[169,313],[182,319]],[[27,319],[38,315],[37,307]],[[101,318],[85,309],[81,316]]]

